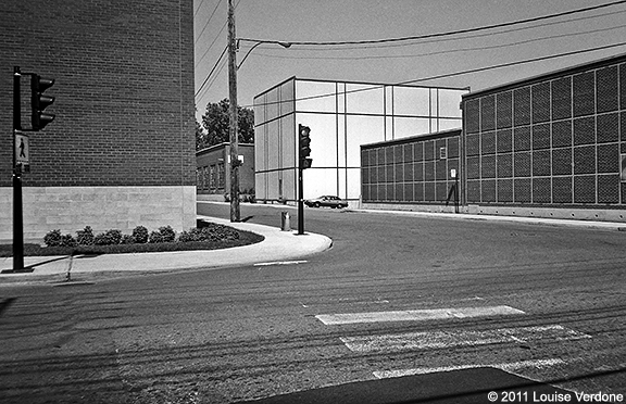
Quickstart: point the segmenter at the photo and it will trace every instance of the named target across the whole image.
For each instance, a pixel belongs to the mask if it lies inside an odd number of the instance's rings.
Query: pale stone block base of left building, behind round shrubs
[[[43,242],[50,230],[76,236],[91,226],[93,232],[136,226],[176,231],[196,227],[196,187],[24,187],[24,240]],[[13,239],[13,189],[0,188],[0,241]]]

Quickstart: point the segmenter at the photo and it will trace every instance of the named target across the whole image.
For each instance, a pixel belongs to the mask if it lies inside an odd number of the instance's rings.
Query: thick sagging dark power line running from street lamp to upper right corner
[[[250,42],[264,42],[264,43],[278,43],[278,42],[289,42],[292,46],[346,46],[346,45],[368,45],[368,43],[389,43],[389,42],[400,42],[400,41],[408,41],[408,40],[418,40],[418,39],[429,39],[429,38],[438,38],[451,35],[459,35],[459,34],[467,34],[467,33],[475,33],[479,30],[486,29],[493,29],[493,28],[502,28],[512,25],[518,24],[527,24],[542,20],[555,18],[564,15],[577,14],[592,10],[604,9],[612,5],[623,4],[626,3],[626,0],[613,1],[611,3],[604,3],[593,7],[588,7],[584,9],[576,9],[571,11],[565,11],[555,14],[548,14],[533,18],[526,20],[518,20],[508,23],[500,23],[493,25],[487,25],[483,27],[475,27],[475,28],[466,28],[466,29],[459,29],[446,33],[437,33],[437,34],[426,34],[426,35],[418,35],[418,36],[410,36],[410,37],[400,37],[400,38],[387,38],[387,39],[372,39],[372,40],[354,40],[354,41],[287,41],[287,40],[265,40],[265,39],[251,39],[251,38],[239,38],[242,41],[250,41]]]

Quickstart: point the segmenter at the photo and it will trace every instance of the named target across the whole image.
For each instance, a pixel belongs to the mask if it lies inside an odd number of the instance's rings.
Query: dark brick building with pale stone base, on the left
[[[8,2],[0,13],[0,239],[12,238],[13,67],[54,78],[29,134],[24,233],[196,219],[192,0]],[[22,126],[29,124],[22,77]]]

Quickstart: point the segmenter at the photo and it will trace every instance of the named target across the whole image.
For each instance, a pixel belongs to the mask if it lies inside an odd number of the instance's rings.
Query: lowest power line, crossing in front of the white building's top
[[[385,87],[388,87],[388,86],[405,86],[405,85],[410,85],[410,84],[416,84],[416,83],[422,83],[422,81],[430,81],[430,80],[436,80],[436,79],[440,79],[440,78],[462,76],[462,75],[465,75],[465,74],[473,74],[473,73],[486,72],[486,71],[496,70],[496,68],[511,67],[511,66],[516,66],[516,65],[521,65],[521,64],[541,62],[541,61],[546,61],[546,60],[550,60],[550,59],[565,58],[565,56],[572,56],[572,55],[576,55],[576,54],[594,52],[594,51],[599,51],[599,50],[606,50],[606,49],[612,49],[612,48],[622,47],[622,46],[625,46],[625,45],[626,45],[626,42],[618,42],[618,43],[613,43],[613,45],[605,45],[605,46],[602,46],[602,47],[588,48],[588,49],[583,49],[583,50],[577,50],[577,51],[558,53],[558,54],[548,55],[548,56],[526,59],[526,60],[523,60],[523,61],[508,62],[508,63],[502,63],[502,64],[497,64],[497,65],[491,65],[491,66],[476,67],[476,68],[471,68],[471,70],[466,70],[466,71],[461,71],[461,72],[447,73],[447,74],[437,75],[437,76],[417,78],[417,79],[412,79],[412,80],[406,80],[406,81],[400,81],[400,83],[396,83],[396,84],[373,85],[373,86],[371,86],[371,87],[365,87],[365,88],[359,88],[359,89],[354,89],[354,90],[345,91],[343,93],[345,93],[345,94],[349,94],[349,93],[355,93],[355,92],[363,92],[363,91],[376,90],[376,89],[385,88]],[[281,104],[281,103],[286,103],[286,102],[309,101],[309,100],[315,100],[315,99],[335,97],[336,94],[337,94],[336,92],[328,92],[328,93],[318,94],[318,96],[309,96],[309,97],[296,98],[296,99],[293,99],[293,100],[281,100],[281,101],[264,102],[264,103],[259,103],[259,104],[253,104],[253,105],[242,105],[242,106],[243,106],[243,108],[254,108],[254,106],[264,106],[264,105],[276,105],[276,104]]]

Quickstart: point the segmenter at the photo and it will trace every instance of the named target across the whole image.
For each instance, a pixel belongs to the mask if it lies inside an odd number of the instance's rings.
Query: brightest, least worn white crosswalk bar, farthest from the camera
[[[315,317],[327,326],[356,323],[380,321],[424,321],[446,318],[470,318],[484,316],[504,316],[525,314],[521,310],[509,306],[487,307],[460,307],[460,308],[434,308],[434,310],[409,310],[399,312],[371,312],[371,313],[346,313],[346,314],[320,314]]]

